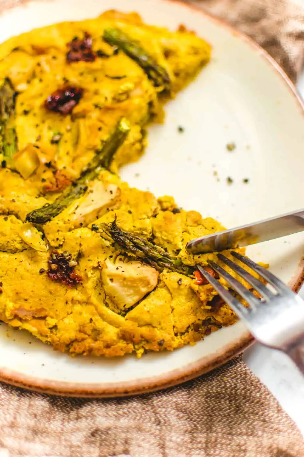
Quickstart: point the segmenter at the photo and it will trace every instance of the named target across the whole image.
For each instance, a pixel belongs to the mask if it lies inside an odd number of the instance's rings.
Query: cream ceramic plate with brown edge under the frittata
[[[171,29],[183,23],[213,45],[212,62],[168,103],[165,124],[149,129],[144,157],[125,167],[123,178],[157,196],[174,195],[181,207],[227,227],[304,207],[302,102],[272,58],[224,23],[167,0],[42,0],[3,11],[0,41],[110,8],[138,11],[144,21]],[[178,126],[184,133],[178,133]],[[231,142],[236,148],[229,152],[226,145]],[[268,262],[294,289],[303,282],[304,234],[257,244],[247,252],[256,261]],[[238,323],[195,346],[150,353],[140,360],[72,358],[2,323],[0,379],[66,395],[140,393],[207,372],[250,343],[251,336]]]

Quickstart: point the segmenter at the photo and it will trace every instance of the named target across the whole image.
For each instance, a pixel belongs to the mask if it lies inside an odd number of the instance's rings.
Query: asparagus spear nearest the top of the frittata
[[[132,58],[153,81],[155,87],[170,89],[170,77],[155,58],[150,56],[139,43],[132,41],[124,32],[117,28],[108,28],[103,32],[103,39],[111,46],[117,46],[128,57]]]

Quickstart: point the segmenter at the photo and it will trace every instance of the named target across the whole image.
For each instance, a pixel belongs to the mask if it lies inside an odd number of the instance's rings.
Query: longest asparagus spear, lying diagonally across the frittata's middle
[[[87,190],[90,181],[96,179],[102,168],[108,168],[113,155],[121,146],[128,135],[130,124],[126,118],[122,118],[99,152],[97,152],[90,166],[82,172],[80,178],[72,183],[62,194],[51,204],[46,204],[27,214],[26,221],[43,224],[61,213],[76,198],[81,197]]]

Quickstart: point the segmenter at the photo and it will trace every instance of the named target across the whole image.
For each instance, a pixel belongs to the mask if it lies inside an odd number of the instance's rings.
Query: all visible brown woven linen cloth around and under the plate
[[[21,1],[0,0],[0,11]],[[296,80],[302,0],[191,3],[250,35]],[[0,457],[21,456],[303,457],[304,443],[239,356],[181,386],[132,398],[69,399],[0,383]]]

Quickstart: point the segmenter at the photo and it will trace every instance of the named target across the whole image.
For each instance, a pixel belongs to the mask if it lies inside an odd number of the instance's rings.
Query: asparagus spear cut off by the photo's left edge
[[[15,97],[11,81],[5,78],[0,86],[0,153],[9,161],[17,151],[17,136],[13,126]]]

